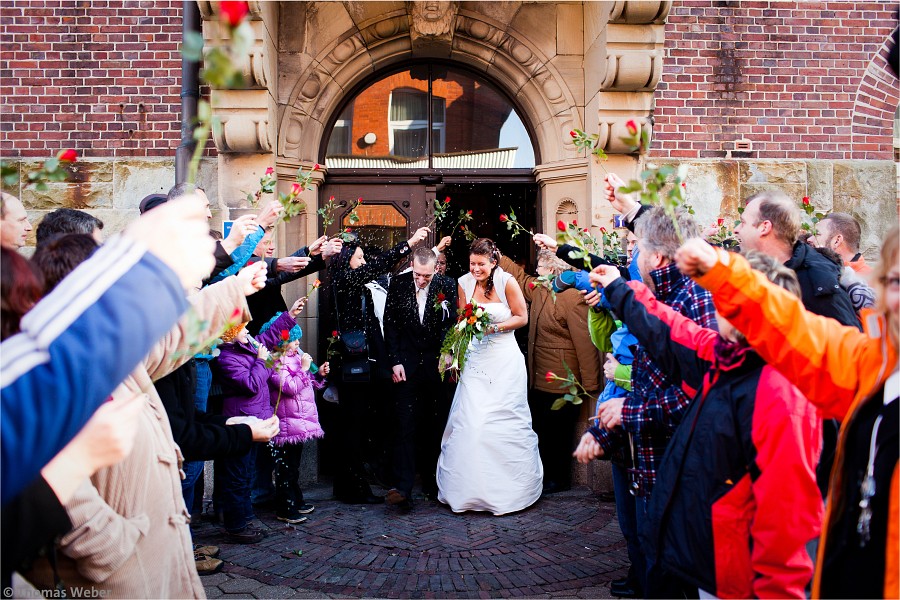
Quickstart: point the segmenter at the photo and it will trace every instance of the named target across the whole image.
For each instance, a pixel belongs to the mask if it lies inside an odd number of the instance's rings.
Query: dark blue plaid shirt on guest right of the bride
[[[650,277],[661,302],[701,327],[717,329],[712,295],[682,275],[674,263],[652,271]],[[637,494],[649,496],[669,439],[691,399],[650,360],[640,345],[634,355],[631,381],[632,391],[626,394],[622,405],[622,428],[607,431],[592,427],[591,433],[604,453],[619,444],[627,444],[625,432],[632,435],[640,484]]]

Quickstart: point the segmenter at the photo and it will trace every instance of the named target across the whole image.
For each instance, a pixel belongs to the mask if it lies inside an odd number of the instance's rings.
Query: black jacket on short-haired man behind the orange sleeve
[[[840,266],[801,242],[794,244],[794,252],[784,266],[797,274],[806,310],[861,329],[850,295],[841,287]]]

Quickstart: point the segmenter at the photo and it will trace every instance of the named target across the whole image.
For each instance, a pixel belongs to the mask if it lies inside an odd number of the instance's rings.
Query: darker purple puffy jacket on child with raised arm
[[[284,312],[272,327],[256,336],[256,341],[274,348],[281,341],[281,331],[290,330],[296,324],[290,313]],[[222,344],[219,351],[214,362],[225,394],[222,414],[226,417],[271,417],[274,401],[269,396],[269,375],[272,369],[256,357],[256,349],[250,344]]]

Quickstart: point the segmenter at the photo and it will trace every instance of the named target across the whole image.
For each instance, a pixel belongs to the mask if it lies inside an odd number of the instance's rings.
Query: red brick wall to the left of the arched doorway
[[[173,156],[181,2],[7,0],[0,152]]]

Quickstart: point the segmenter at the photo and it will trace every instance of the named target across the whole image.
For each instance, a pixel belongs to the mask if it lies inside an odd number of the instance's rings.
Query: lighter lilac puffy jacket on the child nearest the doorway
[[[278,402],[277,414],[281,427],[281,431],[272,440],[276,446],[300,444],[325,435],[319,425],[319,411],[316,409],[316,389],[325,387],[325,382],[301,368],[302,355],[302,352],[297,352],[283,356],[280,364],[269,375],[269,396],[272,406]]]

